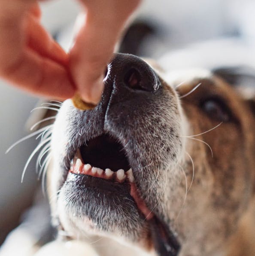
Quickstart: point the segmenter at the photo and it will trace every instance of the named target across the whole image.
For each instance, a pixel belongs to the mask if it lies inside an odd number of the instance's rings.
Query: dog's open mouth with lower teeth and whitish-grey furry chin
[[[146,218],[152,213],[140,197],[120,143],[106,134],[96,137],[77,150],[68,169],[58,195],[58,213],[72,237],[97,234],[143,247],[149,244]]]

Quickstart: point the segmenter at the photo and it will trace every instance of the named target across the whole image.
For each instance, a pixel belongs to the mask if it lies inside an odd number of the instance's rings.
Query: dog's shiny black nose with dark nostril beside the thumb
[[[152,92],[157,91],[161,85],[158,75],[145,61],[122,53],[116,54],[108,64],[105,82]]]

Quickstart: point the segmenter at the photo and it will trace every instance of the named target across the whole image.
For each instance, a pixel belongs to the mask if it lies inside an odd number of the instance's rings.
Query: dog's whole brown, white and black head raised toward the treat
[[[118,54],[94,110],[63,103],[48,177],[52,214],[72,238],[209,255],[234,233],[254,194],[252,110],[209,73],[180,82]]]

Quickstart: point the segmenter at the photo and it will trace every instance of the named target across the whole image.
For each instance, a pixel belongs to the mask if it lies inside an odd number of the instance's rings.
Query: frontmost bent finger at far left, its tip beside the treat
[[[35,1],[3,3],[0,9],[0,75],[36,94],[71,98],[74,86],[65,67],[26,49],[24,17]]]

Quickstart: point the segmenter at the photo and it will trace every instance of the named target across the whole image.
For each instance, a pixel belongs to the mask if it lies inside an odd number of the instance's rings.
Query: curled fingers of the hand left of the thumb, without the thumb
[[[36,0],[0,2],[0,76],[46,97],[71,98],[68,55],[40,24]]]

